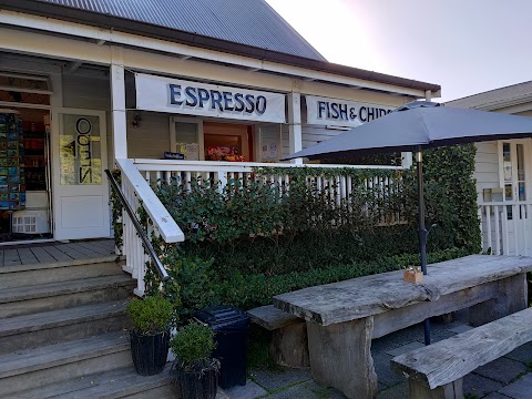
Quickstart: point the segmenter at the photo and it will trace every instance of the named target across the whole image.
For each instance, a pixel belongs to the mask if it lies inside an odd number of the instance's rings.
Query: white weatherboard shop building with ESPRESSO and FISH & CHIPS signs
[[[440,93],[327,62],[262,0],[4,0],[0,30],[0,109],[25,150],[25,203],[0,212],[51,239],[111,236],[119,160],[227,176]]]

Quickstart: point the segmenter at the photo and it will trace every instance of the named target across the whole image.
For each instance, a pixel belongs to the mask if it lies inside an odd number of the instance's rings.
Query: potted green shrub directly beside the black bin
[[[175,355],[172,374],[181,399],[214,399],[218,389],[219,361],[214,331],[200,323],[181,328],[170,340]]]

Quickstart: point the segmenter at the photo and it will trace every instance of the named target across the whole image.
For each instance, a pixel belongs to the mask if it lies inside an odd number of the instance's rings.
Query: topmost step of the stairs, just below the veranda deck
[[[121,265],[114,259],[99,263],[34,264],[0,267],[0,289],[40,284],[69,282],[122,274]]]

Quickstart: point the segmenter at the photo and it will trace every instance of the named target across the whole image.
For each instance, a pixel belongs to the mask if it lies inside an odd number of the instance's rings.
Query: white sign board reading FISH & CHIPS
[[[307,123],[356,127],[396,109],[396,106],[361,103],[306,95]]]

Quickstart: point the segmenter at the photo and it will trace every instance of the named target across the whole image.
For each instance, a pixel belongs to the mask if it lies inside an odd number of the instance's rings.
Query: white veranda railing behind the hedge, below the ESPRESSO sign
[[[355,185],[351,176],[326,177],[319,175],[320,168],[370,168],[370,170],[403,170],[402,166],[374,166],[374,165],[315,165],[315,164],[287,164],[287,163],[253,163],[253,162],[211,162],[211,161],[170,161],[170,160],[133,160],[134,165],[142,173],[146,182],[152,186],[158,186],[162,182],[181,184],[190,188],[191,182],[219,182],[223,190],[231,180],[246,181],[248,178],[262,180],[265,183],[278,184],[283,190],[288,190],[290,177],[286,174],[260,174],[257,175],[257,167],[286,168],[286,167],[307,167],[316,173],[309,173],[307,184],[316,187],[320,193],[329,196],[329,200],[338,205],[342,201],[349,200]],[[371,177],[365,182],[366,187],[376,188],[378,197],[385,197],[388,194],[396,193],[399,190],[400,180],[392,177]],[[382,215],[380,224],[403,223],[400,213]]]

